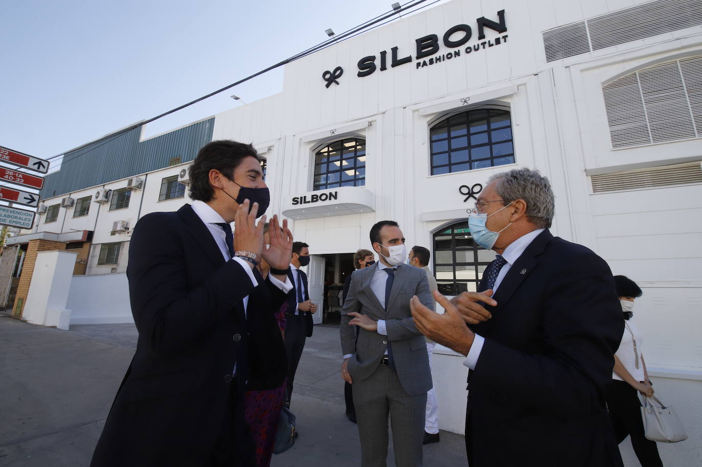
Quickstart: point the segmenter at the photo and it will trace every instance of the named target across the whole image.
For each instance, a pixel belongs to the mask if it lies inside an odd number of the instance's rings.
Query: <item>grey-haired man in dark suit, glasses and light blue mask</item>
[[[471,467],[622,466],[605,406],[621,305],[607,263],[548,231],[554,204],[538,171],[492,176],[468,219],[498,253],[480,292],[435,293],[444,315],[412,300],[418,329],[467,356]]]

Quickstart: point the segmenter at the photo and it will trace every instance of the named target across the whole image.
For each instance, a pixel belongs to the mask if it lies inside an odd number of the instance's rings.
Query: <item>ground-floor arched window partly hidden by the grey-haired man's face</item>
[[[444,237],[444,238],[440,238]],[[446,237],[449,237],[446,239]],[[449,247],[446,247],[445,242],[449,241]],[[443,243],[439,243],[443,242]],[[477,291],[482,275],[485,272],[487,266],[494,260],[494,252],[491,250],[486,250],[482,246],[475,243],[470,235],[470,228],[468,228],[468,220],[458,221],[453,224],[446,225],[432,235],[432,246],[434,252],[432,258],[434,260],[434,276],[437,279],[437,284],[439,286],[439,292],[442,295],[456,296],[463,291]],[[450,263],[438,263],[437,259],[439,256],[443,256],[442,252],[451,251],[451,262]],[[470,252],[466,255],[466,259],[472,256],[473,261],[457,261],[458,252]],[[485,254],[480,254],[480,251],[487,251],[489,255],[488,258],[484,258]],[[483,256],[484,261],[481,261],[480,256]],[[458,279],[456,277],[456,270],[460,267],[473,268],[475,270],[475,279]],[[441,272],[449,272],[447,270],[439,270],[439,268],[451,268],[451,274],[453,279],[442,278]],[[461,287],[461,284],[464,284]],[[469,287],[469,284],[474,284],[473,287]]]

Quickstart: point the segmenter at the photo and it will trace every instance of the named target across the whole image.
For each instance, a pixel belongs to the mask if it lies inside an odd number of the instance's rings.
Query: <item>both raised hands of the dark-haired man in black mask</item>
[[[264,246],[263,225],[266,216],[262,216],[256,225],[258,203],[253,203],[251,212],[249,203],[249,199],[245,199],[239,204],[234,216],[234,251],[251,251],[263,256],[272,268],[287,269],[293,256],[293,233],[288,228],[288,220],[283,220],[281,228],[277,214],[273,216],[268,228],[270,244]]]

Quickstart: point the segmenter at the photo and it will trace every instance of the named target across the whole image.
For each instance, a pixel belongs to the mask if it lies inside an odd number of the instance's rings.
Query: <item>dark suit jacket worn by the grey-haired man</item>
[[[468,380],[470,466],[621,466],[605,388],[624,324],[607,263],[545,230],[494,298],[472,326],[485,343]]]

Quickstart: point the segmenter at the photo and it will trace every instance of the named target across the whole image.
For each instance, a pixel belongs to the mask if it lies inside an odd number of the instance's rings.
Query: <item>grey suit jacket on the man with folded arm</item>
[[[420,395],[432,388],[432,375],[424,336],[414,325],[409,301],[416,295],[425,306],[433,308],[427,275],[419,268],[399,265],[386,313],[371,290],[371,277],[380,265],[378,262],[376,266],[353,272],[349,293],[341,310],[341,348],[344,355],[353,354],[349,360],[348,372],[354,382],[371,376],[380,360],[383,360],[389,340],[402,388],[409,395]],[[355,326],[349,326],[352,317],[348,314],[352,312],[362,313],[375,321],[385,320],[388,336],[360,328],[356,339]]]

